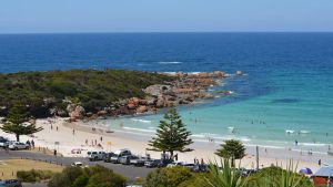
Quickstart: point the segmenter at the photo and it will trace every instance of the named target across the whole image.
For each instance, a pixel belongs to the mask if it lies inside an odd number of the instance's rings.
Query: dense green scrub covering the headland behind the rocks
[[[112,102],[144,97],[142,89],[175,77],[127,70],[70,70],[0,74],[0,115],[17,101],[34,117],[64,112],[68,103],[80,103],[85,112],[98,112]]]

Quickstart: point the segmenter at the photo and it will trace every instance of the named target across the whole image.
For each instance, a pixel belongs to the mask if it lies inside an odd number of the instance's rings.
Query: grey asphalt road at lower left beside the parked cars
[[[13,157],[22,157],[28,159],[36,159],[42,162],[51,162],[57,164],[62,164],[64,166],[70,166],[74,162],[81,162],[84,165],[102,165],[110,169],[113,169],[115,173],[125,176],[129,181],[134,180],[137,177],[144,178],[148,173],[153,170],[152,168],[147,167],[135,167],[135,166],[127,166],[121,164],[111,164],[104,162],[89,162],[87,158],[78,158],[78,157],[56,157],[51,155],[44,155],[41,153],[32,153],[29,150],[9,150],[8,153],[3,149],[0,150],[0,159],[8,159]]]

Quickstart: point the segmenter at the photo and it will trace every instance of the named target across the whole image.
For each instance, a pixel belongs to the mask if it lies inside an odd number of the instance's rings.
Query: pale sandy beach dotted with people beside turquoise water
[[[36,133],[33,137],[21,136],[21,142],[34,139],[37,147],[48,147],[48,149],[57,149],[65,157],[84,157],[87,150],[102,149],[104,152],[115,152],[119,148],[129,148],[133,154],[142,155],[150,154],[152,158],[160,158],[158,152],[147,150],[148,141],[150,137],[137,135],[134,133],[125,132],[108,132],[107,129],[95,128],[93,129],[84,122],[68,123],[65,118],[49,118],[38,120],[37,126],[42,126],[43,131]],[[58,129],[57,129],[58,128]],[[13,135],[6,134],[0,131],[0,136],[14,139]],[[97,144],[95,144],[97,143]],[[95,146],[100,144],[101,146]],[[110,145],[111,144],[111,145]],[[220,160],[214,155],[214,150],[219,147],[219,144],[211,142],[194,142],[191,145],[193,152],[190,153],[176,153],[180,162],[193,163],[194,158],[204,162]],[[80,154],[75,150],[81,149]],[[74,152],[73,152],[74,150]],[[263,148],[259,147],[260,155],[260,168],[268,167],[270,165],[285,166],[292,159],[297,168],[310,167],[314,172],[320,168],[317,160],[325,160],[327,155],[307,155],[307,153],[301,153],[278,149],[278,148]],[[246,147],[246,156],[241,160],[241,166],[245,168],[254,168],[255,165],[255,146]]]

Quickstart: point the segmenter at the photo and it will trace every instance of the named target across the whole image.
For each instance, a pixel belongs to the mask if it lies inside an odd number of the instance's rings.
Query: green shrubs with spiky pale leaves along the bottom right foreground
[[[151,172],[144,187],[313,187],[310,178],[296,173],[292,164],[286,168],[271,166],[244,175],[231,166],[230,159],[210,163],[208,173],[193,173],[175,166]]]

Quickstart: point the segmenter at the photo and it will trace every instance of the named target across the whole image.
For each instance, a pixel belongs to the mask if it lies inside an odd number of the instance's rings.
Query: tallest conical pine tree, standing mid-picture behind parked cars
[[[190,136],[191,132],[185,128],[181,116],[172,107],[164,114],[164,120],[160,121],[157,135],[148,144],[152,148],[148,149],[169,152],[171,157],[173,157],[174,152],[192,152],[193,149],[186,147],[193,143]]]

